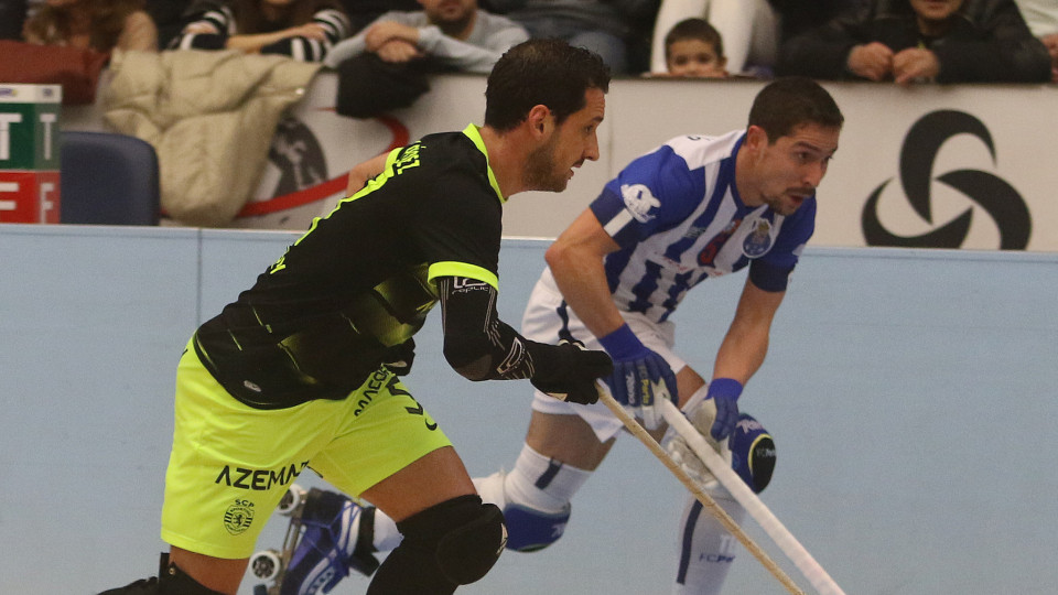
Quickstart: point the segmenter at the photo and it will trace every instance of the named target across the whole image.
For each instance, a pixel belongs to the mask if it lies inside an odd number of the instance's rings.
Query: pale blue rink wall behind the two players
[[[0,593],[96,593],[153,572],[176,360],[295,237],[0,226]],[[505,240],[499,309],[512,324],[544,247]],[[704,283],[676,314],[678,348],[705,374],[742,279]],[[846,593],[1054,593],[1056,292],[1056,255],[806,251],[742,407],[779,453],[764,501]],[[460,378],[438,317],[408,385],[472,475],[510,468],[530,387]],[[561,541],[505,554],[460,593],[667,593],[682,497],[625,436]],[[273,519],[260,544],[284,528]],[[781,587],[741,552],[726,592]]]

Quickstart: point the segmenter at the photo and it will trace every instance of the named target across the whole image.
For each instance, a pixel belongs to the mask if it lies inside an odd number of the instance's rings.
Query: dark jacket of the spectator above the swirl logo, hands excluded
[[[938,83],[1046,83],[1047,48],[1028,30],[1014,0],[965,0],[936,39],[918,31],[907,0],[875,0],[782,45],[776,74],[857,79],[846,68],[856,45],[881,42],[894,52],[926,47],[940,61]]]

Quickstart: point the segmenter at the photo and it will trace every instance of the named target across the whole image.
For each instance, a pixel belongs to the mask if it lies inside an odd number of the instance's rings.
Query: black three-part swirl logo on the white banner
[[[995,164],[992,134],[981,120],[956,110],[927,113],[908,130],[900,149],[900,184],[915,213],[933,225],[930,186],[933,180],[959,191],[984,209],[998,229],[1002,250],[1024,250],[1032,234],[1028,206],[1017,191],[1001,177],[978,170],[956,170],[933,177],[933,162],[941,147],[957,134],[971,134],[989,150]],[[868,246],[908,248],[960,248],[970,232],[974,208],[968,207],[950,221],[917,236],[897,234],[878,218],[878,201],[893,178],[883,182],[863,208],[863,235]]]

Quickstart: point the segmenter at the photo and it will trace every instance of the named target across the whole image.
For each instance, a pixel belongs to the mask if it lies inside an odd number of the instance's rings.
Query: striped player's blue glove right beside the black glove
[[[657,399],[679,402],[672,368],[663,357],[648,349],[627,324],[598,342],[614,359],[614,372],[604,379],[614,400],[641,419],[647,430],[658,428],[662,418],[655,409]]]

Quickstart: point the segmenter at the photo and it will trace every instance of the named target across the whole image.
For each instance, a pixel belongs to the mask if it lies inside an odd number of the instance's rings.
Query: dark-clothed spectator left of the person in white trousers
[[[558,37],[595,52],[614,74],[649,69],[645,55],[658,0],[488,0],[487,7],[532,37]]]

